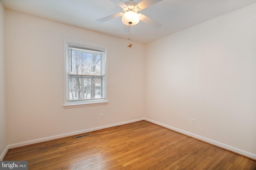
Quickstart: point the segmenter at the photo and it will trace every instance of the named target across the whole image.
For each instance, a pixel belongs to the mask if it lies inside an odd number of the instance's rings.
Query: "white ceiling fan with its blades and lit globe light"
[[[152,20],[151,18],[145,16],[144,14],[138,13],[138,11],[144,10],[149,6],[156,4],[162,0],[142,0],[137,4],[134,0],[128,0],[126,2],[122,2],[121,0],[110,0],[116,5],[123,8],[123,12],[119,12],[117,14],[113,14],[101,19],[96,20],[96,22],[102,23],[108,20],[112,20],[114,18],[122,16],[122,22],[126,26],[134,26],[138,24],[140,21],[152,26],[155,29],[160,28],[161,24]]]

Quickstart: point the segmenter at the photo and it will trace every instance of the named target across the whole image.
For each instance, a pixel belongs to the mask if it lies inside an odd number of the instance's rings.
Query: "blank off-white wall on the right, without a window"
[[[147,44],[146,118],[256,158],[255,9]]]

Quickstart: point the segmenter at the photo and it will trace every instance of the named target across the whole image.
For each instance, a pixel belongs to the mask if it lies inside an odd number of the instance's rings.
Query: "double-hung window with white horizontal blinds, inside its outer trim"
[[[105,49],[67,44],[66,55],[66,105],[106,102]]]

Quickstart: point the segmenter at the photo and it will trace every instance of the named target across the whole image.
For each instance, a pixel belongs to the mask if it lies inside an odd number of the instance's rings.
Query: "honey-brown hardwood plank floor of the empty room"
[[[8,151],[29,170],[256,170],[256,161],[172,130],[139,121]]]

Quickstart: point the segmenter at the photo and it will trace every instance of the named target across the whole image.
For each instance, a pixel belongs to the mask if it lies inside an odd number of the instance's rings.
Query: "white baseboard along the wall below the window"
[[[35,144],[35,143],[38,143],[38,142],[44,142],[44,141],[47,141],[47,140],[53,140],[53,139],[57,139],[57,138],[63,138],[63,137],[66,137],[66,136],[73,136],[73,135],[76,135],[76,134],[82,134],[82,133],[86,133],[86,132],[92,132],[92,131],[94,131],[94,130],[99,130],[99,129],[103,129],[103,128],[109,128],[109,127],[115,127],[115,126],[124,125],[124,124],[127,124],[127,123],[133,123],[133,122],[143,121],[143,120],[144,120],[143,118],[141,118],[141,119],[135,119],[135,120],[132,120],[132,121],[126,121],[126,122],[121,122],[121,123],[114,123],[114,124],[111,124],[111,125],[105,125],[105,126],[96,127],[96,128],[89,128],[89,129],[85,129],[85,130],[79,130],[79,131],[76,131],[76,132],[70,132],[70,133],[65,133],[65,134],[59,134],[59,135],[55,135],[55,136],[49,136],[49,137],[45,137],[45,138],[39,138],[39,139],[29,140],[29,141],[20,142],[20,143],[15,143],[15,144],[9,144],[9,145],[8,145],[8,149],[17,148],[17,147],[20,147],[20,146],[26,146],[26,145],[29,145],[29,144]]]

